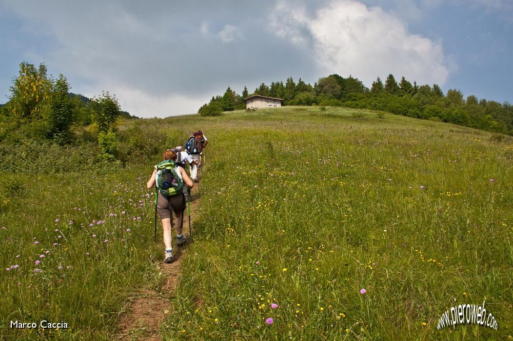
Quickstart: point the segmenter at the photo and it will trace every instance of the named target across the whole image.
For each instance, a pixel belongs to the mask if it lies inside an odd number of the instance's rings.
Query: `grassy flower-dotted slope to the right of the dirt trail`
[[[212,120],[204,214],[164,336],[512,334],[511,140],[380,116],[283,108]],[[450,307],[483,301],[497,331],[437,330]]]

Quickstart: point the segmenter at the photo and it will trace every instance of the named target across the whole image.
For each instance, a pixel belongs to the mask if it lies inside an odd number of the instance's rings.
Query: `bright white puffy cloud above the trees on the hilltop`
[[[447,80],[449,71],[441,43],[410,34],[405,23],[379,7],[339,0],[319,9],[312,18],[302,9],[289,13],[280,11],[286,16],[282,24],[271,16],[276,34],[302,42],[297,32],[306,29],[312,39],[309,48],[314,49],[325,74],[352,74],[367,86],[389,73],[421,84],[443,85]]]

